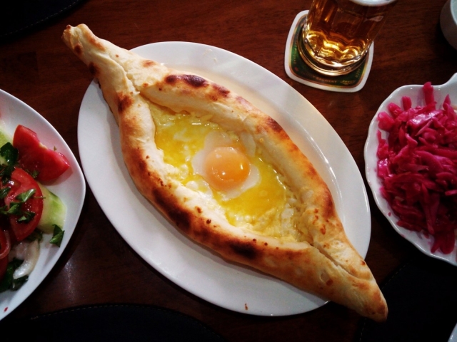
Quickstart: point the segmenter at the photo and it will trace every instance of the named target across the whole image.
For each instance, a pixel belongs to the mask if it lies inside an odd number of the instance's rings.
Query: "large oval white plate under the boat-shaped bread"
[[[161,42],[134,51],[224,85],[277,120],[327,182],[349,239],[366,255],[371,217],[361,174],[341,138],[308,100],[256,63],[214,46]],[[299,314],[326,303],[224,261],[164,219],[136,190],[122,159],[118,128],[95,81],[81,103],[78,141],[86,180],[101,209],[139,256],[175,284],[212,304],[260,316]]]

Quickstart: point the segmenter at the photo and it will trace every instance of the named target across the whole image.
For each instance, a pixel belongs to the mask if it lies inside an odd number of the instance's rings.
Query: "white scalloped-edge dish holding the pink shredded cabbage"
[[[457,104],[457,73],[454,74],[451,79],[444,83],[441,86],[433,86],[433,95],[436,100],[436,108],[442,108],[443,100],[446,98],[446,95],[450,95],[451,103]],[[364,157],[365,157],[365,172],[368,185],[373,192],[373,197],[378,205],[378,208],[384,214],[386,219],[391,223],[393,229],[395,229],[398,234],[411,242],[424,254],[447,261],[450,264],[457,266],[457,246],[454,246],[453,252],[451,254],[443,254],[440,250],[431,253],[431,246],[433,244],[433,237],[423,234],[423,232],[412,232],[411,230],[405,229],[398,226],[398,217],[391,211],[391,207],[388,205],[388,202],[381,195],[381,180],[378,179],[376,175],[378,157],[376,156],[376,150],[378,149],[378,113],[387,112],[387,106],[389,103],[396,103],[401,106],[401,98],[403,96],[408,96],[411,98],[412,106],[416,105],[425,105],[425,99],[423,96],[423,85],[411,85],[403,86],[391,93],[391,95],[384,100],[384,102],[379,107],[376,115],[373,120],[371,120],[370,127],[368,128],[368,138],[365,143]],[[381,130],[381,136],[386,138],[387,133]]]

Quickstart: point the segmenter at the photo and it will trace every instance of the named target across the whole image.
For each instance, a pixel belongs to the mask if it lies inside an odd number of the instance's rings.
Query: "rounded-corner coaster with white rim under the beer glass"
[[[341,93],[355,93],[365,86],[368,73],[370,73],[371,62],[373,61],[373,45],[371,44],[365,61],[358,68],[346,75],[327,76],[314,71],[301,59],[298,53],[298,36],[306,20],[308,11],[301,11],[293,20],[286,42],[286,53],[284,58],[284,68],[287,76],[294,81],[306,84],[313,88],[337,91]]]

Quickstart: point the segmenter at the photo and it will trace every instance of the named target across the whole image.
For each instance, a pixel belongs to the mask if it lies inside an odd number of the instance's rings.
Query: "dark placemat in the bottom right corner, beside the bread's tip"
[[[417,254],[381,286],[387,321],[364,319],[356,341],[448,341],[457,323],[457,267]]]

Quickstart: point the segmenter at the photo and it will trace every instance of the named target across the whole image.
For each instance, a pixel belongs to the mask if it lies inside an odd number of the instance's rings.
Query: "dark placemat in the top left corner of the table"
[[[84,1],[86,0],[6,0],[0,12],[0,41],[38,29]]]

